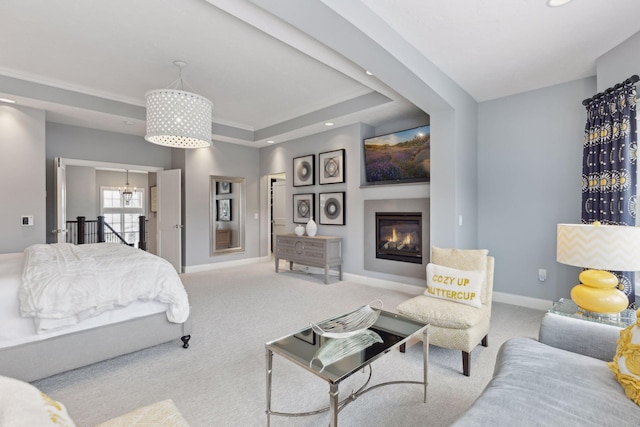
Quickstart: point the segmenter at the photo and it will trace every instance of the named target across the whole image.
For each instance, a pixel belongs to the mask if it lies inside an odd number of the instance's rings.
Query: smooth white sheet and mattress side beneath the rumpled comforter
[[[0,254],[0,349],[40,341],[71,332],[95,328],[110,323],[162,313],[167,304],[159,302],[134,302],[127,307],[110,310],[99,316],[79,322],[67,328],[36,333],[33,318],[20,315],[18,289],[22,277],[24,253]]]

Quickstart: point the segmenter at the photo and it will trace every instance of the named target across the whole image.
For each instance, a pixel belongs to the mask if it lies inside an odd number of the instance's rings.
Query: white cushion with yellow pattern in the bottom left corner
[[[75,427],[67,409],[29,383],[0,376],[0,424]]]

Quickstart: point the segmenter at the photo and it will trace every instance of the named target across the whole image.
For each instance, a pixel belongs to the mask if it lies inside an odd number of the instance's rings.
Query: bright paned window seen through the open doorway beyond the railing
[[[104,237],[107,242],[119,243],[118,233],[128,244],[138,247],[140,242],[140,215],[145,215],[144,189],[133,190],[133,197],[129,203],[125,203],[118,188],[102,187],[100,212],[104,216],[104,221],[108,227]]]

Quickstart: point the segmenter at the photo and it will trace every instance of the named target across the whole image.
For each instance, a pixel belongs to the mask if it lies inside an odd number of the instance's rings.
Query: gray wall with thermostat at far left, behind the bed
[[[0,253],[46,239],[44,111],[0,103]],[[20,217],[33,215],[34,226]]]

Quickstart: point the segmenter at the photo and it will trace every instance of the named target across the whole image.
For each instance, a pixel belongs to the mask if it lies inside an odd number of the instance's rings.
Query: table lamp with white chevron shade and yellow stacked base
[[[615,315],[629,305],[618,279],[608,271],[640,270],[640,227],[593,224],[558,224],[556,260],[591,268],[580,273],[571,299],[582,310]]]

